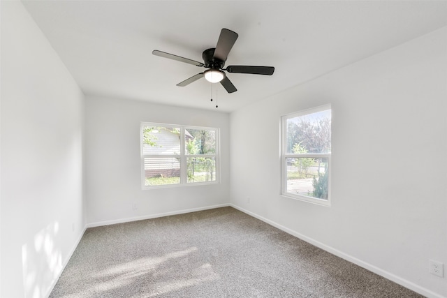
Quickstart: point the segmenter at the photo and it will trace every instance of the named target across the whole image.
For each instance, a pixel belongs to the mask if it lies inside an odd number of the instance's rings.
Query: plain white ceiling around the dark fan
[[[226,66],[274,66],[272,76],[230,73],[214,84],[230,112],[447,26],[447,1],[23,1],[86,95],[216,109],[211,84],[176,84],[204,68],[222,28],[239,33]],[[217,88],[217,91],[216,91]]]

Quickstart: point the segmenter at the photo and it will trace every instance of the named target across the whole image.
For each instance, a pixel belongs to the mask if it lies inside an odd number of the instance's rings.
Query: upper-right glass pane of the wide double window
[[[186,154],[216,154],[216,131],[186,128],[184,131]]]

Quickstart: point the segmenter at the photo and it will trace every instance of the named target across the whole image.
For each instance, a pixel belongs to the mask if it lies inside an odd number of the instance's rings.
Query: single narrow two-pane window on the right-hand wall
[[[330,105],[282,117],[282,195],[330,205]]]

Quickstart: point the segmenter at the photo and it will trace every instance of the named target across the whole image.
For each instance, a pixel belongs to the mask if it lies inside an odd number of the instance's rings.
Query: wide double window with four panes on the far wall
[[[219,129],[141,123],[142,188],[219,181]]]

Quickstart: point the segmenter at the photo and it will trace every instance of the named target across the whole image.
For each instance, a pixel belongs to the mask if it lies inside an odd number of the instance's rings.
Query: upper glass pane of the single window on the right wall
[[[330,153],[330,110],[286,121],[286,153]]]

